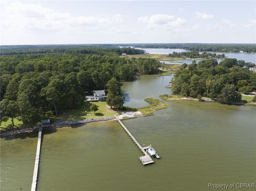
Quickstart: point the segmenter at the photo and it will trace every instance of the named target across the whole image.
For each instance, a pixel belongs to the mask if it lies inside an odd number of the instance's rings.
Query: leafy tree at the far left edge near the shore
[[[1,121],[7,121],[11,118],[12,127],[14,127],[14,118],[19,116],[19,107],[17,102],[3,99],[1,102]]]

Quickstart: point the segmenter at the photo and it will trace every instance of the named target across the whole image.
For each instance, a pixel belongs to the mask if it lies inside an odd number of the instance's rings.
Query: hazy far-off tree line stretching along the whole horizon
[[[117,47],[122,47],[117,48]],[[109,48],[113,48],[110,49]],[[150,44],[79,44],[79,45],[12,45],[1,46],[1,54],[25,54],[25,53],[78,53],[105,54],[116,52],[117,54],[144,54],[135,48],[181,48],[187,51],[199,52],[247,52],[256,53],[256,44],[201,44],[201,43],[150,43]],[[95,49],[96,48],[96,49]],[[85,52],[84,52],[85,53]],[[87,54],[86,53],[86,54]]]

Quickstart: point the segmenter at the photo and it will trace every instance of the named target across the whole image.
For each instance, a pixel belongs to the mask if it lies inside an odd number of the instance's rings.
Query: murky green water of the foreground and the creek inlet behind
[[[170,78],[125,82],[125,105],[147,105],[145,97],[170,93],[164,88]],[[254,106],[168,104],[152,117],[124,121],[162,156],[145,167],[115,121],[44,131],[38,190],[208,190],[209,183],[255,183]],[[1,190],[30,190],[36,138],[10,139],[1,139]]]

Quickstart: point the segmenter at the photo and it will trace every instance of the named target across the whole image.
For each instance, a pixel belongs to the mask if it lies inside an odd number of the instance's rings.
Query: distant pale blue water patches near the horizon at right
[[[185,49],[179,48],[140,48],[148,52],[149,54],[169,54],[173,52],[186,52]],[[203,52],[199,52],[200,54]],[[211,52],[212,53],[212,52]],[[234,58],[237,60],[244,60],[245,62],[252,62],[256,64],[256,54],[255,53],[223,53],[223,52],[214,52],[216,54],[225,54],[229,58]],[[221,59],[219,59],[221,61]],[[182,60],[183,63],[191,64],[192,60]],[[168,61],[165,63],[168,63]],[[172,64],[180,64],[179,61],[174,61]]]

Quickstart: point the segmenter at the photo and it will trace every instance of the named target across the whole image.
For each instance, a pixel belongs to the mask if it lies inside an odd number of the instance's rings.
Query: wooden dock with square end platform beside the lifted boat
[[[143,165],[145,164],[150,164],[150,163],[154,163],[153,159],[151,159],[151,157],[148,155],[148,153],[144,150],[144,148],[138,143],[138,141],[133,137],[133,135],[131,134],[131,132],[124,126],[124,124],[121,122],[121,120],[118,119],[118,117],[116,117],[116,115],[114,115],[116,120],[121,124],[121,126],[124,128],[124,130],[127,132],[127,134],[132,138],[133,142],[139,147],[139,149],[141,150],[141,152],[144,154],[144,156],[140,156],[139,159],[142,162]]]

